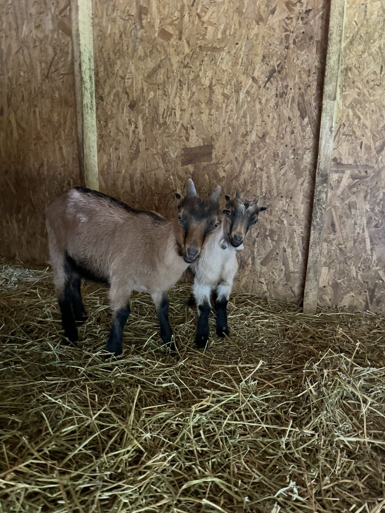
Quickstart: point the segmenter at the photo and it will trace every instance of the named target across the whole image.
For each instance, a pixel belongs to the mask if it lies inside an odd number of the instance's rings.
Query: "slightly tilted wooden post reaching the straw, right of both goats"
[[[322,265],[323,229],[326,205],[328,204],[329,175],[334,143],[344,18],[345,0],[331,0],[318,161],[314,188],[312,224],[310,229],[309,256],[307,259],[303,297],[303,311],[305,313],[315,313],[317,310],[318,286]]]

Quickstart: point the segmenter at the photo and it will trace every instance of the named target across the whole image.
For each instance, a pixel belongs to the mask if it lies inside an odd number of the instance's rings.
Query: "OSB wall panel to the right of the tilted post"
[[[385,6],[348,0],[321,305],[385,313]]]

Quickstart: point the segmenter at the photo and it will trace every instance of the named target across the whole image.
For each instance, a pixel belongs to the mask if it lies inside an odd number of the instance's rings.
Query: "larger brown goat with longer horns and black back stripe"
[[[101,192],[75,187],[47,209],[46,226],[65,336],[78,341],[76,322],[86,321],[81,280],[109,285],[112,325],[107,349],[122,353],[123,328],[133,290],[148,292],[157,307],[160,336],[171,350],[166,292],[194,262],[218,226],[218,186],[201,200],[194,182],[176,194],[178,218],[136,210]]]

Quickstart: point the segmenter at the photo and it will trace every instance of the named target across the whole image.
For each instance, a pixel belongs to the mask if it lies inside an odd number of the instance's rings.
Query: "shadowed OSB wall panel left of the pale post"
[[[45,206],[79,183],[69,3],[0,11],[1,254],[42,263]]]

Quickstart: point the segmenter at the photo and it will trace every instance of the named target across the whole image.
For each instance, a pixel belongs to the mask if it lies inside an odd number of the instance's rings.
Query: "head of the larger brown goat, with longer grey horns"
[[[189,193],[188,189],[185,198],[181,198],[179,194],[175,195],[180,200],[178,203],[178,251],[188,264],[198,258],[205,240],[219,226],[220,192],[220,187],[217,187],[207,200],[199,198],[196,191],[195,194]]]

